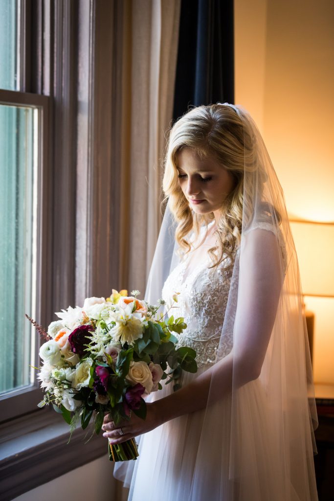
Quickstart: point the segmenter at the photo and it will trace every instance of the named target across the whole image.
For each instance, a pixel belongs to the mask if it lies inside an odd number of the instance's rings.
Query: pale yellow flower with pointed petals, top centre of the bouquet
[[[124,310],[120,308],[115,315],[116,325],[110,331],[114,341],[133,345],[136,339],[143,337],[143,316],[141,313],[132,313],[132,304]]]

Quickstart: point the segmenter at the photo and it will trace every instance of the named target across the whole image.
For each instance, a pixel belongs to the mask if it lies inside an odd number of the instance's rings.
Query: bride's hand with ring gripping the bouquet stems
[[[102,426],[104,430],[103,436],[111,438],[112,443],[117,444],[147,433],[162,424],[162,421],[158,418],[154,402],[146,404],[146,411],[146,419],[141,419],[132,412],[129,420],[124,419],[117,426],[110,420],[109,414],[106,414]],[[124,434],[122,434],[122,431]]]

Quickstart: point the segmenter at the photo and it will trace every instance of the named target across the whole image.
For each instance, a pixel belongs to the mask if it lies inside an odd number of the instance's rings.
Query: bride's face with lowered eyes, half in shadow
[[[232,174],[213,159],[203,159],[191,148],[182,148],[176,155],[180,187],[197,214],[214,212],[219,218],[222,202],[232,191]]]

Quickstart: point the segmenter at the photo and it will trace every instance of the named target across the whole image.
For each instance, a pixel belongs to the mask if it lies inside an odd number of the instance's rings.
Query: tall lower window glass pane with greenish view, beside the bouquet
[[[30,385],[35,333],[38,110],[0,105],[0,393]]]

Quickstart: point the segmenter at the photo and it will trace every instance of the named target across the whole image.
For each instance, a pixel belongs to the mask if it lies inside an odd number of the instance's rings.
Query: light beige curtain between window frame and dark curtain
[[[144,294],[162,220],[161,161],[172,118],[180,0],[126,0],[119,16],[123,32],[119,284]]]

